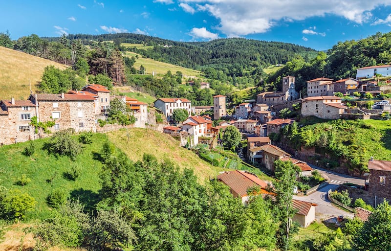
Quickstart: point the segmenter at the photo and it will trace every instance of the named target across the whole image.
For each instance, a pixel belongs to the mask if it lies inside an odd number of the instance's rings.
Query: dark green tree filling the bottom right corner
[[[391,206],[387,201],[378,205],[354,237],[357,251],[391,250]]]

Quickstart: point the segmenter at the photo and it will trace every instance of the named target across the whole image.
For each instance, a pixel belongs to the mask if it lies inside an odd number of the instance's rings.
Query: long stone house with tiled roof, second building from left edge
[[[96,132],[95,98],[83,94],[31,94],[38,120],[55,120],[52,132],[73,128],[75,132]]]

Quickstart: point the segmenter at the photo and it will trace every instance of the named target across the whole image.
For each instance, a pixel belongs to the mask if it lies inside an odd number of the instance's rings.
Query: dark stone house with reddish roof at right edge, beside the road
[[[391,161],[369,160],[368,191],[376,197],[376,204],[382,203],[383,198],[391,200]]]

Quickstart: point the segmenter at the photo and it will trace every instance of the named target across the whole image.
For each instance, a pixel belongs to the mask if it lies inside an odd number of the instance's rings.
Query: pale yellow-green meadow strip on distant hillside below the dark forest
[[[144,66],[148,74],[152,74],[152,71],[157,72],[157,74],[166,74],[167,71],[171,70],[173,74],[176,71],[181,71],[183,77],[200,77],[201,72],[194,69],[184,68],[180,66],[175,66],[168,63],[159,62],[150,58],[143,58],[142,55],[127,51],[126,56],[132,57],[138,55],[139,58],[136,58],[134,63],[134,68],[139,69],[140,66]]]

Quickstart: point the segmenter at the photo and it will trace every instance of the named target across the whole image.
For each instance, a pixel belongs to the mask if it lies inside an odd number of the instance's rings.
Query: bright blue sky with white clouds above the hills
[[[175,41],[243,37],[325,50],[391,31],[391,0],[0,0],[0,32],[132,32]]]

